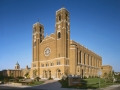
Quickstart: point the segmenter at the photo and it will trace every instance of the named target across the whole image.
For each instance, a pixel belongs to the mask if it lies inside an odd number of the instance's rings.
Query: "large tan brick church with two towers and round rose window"
[[[70,13],[56,11],[55,32],[44,37],[44,26],[33,24],[31,78],[60,79],[63,75],[98,76],[102,57],[70,39]],[[35,72],[36,71],[36,74]]]

